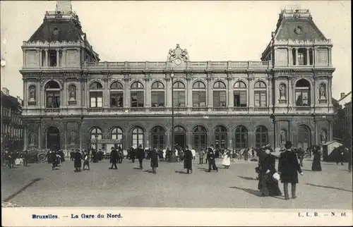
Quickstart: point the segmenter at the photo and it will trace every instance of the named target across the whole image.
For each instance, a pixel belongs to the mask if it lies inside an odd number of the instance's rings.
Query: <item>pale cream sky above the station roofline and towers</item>
[[[333,42],[333,97],[352,90],[350,1],[72,1],[101,61],[260,61],[284,7],[308,8]],[[1,87],[23,97],[20,49],[56,1],[1,1]]]

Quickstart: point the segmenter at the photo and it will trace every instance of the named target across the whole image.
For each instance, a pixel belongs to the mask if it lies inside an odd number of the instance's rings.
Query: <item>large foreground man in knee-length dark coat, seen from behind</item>
[[[297,197],[296,185],[298,181],[298,172],[303,175],[300,165],[298,163],[297,155],[292,152],[292,142],[285,143],[286,151],[280,154],[280,161],[278,163],[278,172],[280,172],[281,182],[284,183],[285,200],[289,200],[288,183],[292,185],[292,199]]]

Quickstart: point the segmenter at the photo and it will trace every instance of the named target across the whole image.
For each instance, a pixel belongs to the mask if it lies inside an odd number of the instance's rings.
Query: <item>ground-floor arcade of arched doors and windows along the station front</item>
[[[38,149],[124,149],[171,147],[174,144],[194,149],[242,149],[275,145],[291,140],[294,147],[309,147],[333,139],[332,121],[325,116],[183,116],[170,117],[84,117],[25,119],[24,148]]]

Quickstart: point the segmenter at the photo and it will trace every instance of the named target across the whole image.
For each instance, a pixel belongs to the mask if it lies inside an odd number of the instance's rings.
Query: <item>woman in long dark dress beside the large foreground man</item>
[[[275,156],[271,154],[270,148],[266,147],[263,159],[260,161],[258,176],[258,189],[263,197],[282,195],[280,188],[278,188],[278,181],[274,177],[277,173],[275,163]]]

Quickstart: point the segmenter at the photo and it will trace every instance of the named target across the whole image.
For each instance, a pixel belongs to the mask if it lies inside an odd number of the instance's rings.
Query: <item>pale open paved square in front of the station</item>
[[[217,160],[218,173],[208,173],[203,169],[207,164],[194,161],[190,175],[184,174],[182,163],[164,162],[152,174],[149,160],[144,161],[143,171],[136,168],[138,161],[128,160],[117,171],[108,169],[108,161],[100,161],[80,173],[73,172],[73,161],[65,161],[55,171],[50,164],[2,166],[2,201],[24,207],[352,209],[352,173],[347,164],[322,163],[323,171],[312,172],[311,161],[304,161],[297,199],[284,200],[259,197],[256,162],[234,160],[229,169],[221,162]]]

